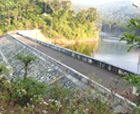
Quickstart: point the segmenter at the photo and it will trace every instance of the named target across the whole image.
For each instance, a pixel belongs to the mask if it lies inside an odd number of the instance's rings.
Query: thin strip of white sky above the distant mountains
[[[73,3],[80,3],[80,4],[94,4],[94,3],[105,3],[105,2],[113,2],[113,1],[121,1],[121,0],[71,0]],[[128,0],[136,5],[140,5],[140,0]]]

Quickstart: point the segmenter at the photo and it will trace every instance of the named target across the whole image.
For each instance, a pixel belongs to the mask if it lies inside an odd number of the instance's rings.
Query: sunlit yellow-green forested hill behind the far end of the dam
[[[41,29],[48,37],[83,40],[95,37],[97,19],[96,8],[76,14],[70,0],[0,0],[0,36],[7,31]]]

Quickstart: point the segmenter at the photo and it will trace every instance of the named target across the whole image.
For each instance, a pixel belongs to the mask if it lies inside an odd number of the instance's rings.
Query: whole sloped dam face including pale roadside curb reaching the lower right
[[[4,39],[4,40],[3,40]],[[58,82],[63,89],[79,90],[84,93],[88,88],[92,91],[90,98],[98,98],[104,103],[111,103],[111,107],[117,110],[117,106],[126,109],[129,105],[135,106],[132,102],[125,102],[119,95],[112,94],[107,88],[97,84],[77,71],[61,64],[59,61],[48,57],[42,52],[16,40],[10,35],[0,39],[0,62],[10,69],[9,80],[12,78],[23,77],[24,64],[15,58],[18,54],[36,57],[28,67],[28,77],[34,78],[44,84],[55,84]],[[91,87],[94,86],[93,88]],[[96,88],[96,90],[95,90]],[[126,104],[127,103],[127,104]]]

